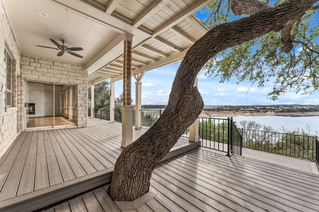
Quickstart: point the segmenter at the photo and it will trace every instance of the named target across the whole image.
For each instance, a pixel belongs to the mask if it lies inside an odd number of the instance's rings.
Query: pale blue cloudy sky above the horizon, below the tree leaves
[[[175,73],[180,63],[166,65],[147,71],[142,79],[142,104],[166,105]],[[198,75],[198,90],[205,105],[272,105],[272,104],[319,104],[319,91],[309,95],[296,94],[290,91],[279,96],[276,101],[267,99],[267,94],[273,85],[264,87],[251,86],[249,81],[236,83],[232,78],[225,83],[219,83],[219,78],[205,76],[204,72]],[[135,104],[135,78],[132,77],[132,99]],[[123,81],[115,82],[115,95],[123,92]]]

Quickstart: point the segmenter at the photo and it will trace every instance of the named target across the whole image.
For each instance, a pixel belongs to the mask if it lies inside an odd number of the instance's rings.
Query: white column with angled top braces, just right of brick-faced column
[[[141,109],[142,109],[142,77],[145,71],[134,74],[135,82],[135,129],[141,129]]]

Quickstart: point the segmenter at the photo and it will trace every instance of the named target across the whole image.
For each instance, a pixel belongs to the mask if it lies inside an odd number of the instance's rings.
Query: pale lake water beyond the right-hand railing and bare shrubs
[[[225,118],[228,117],[212,117],[212,118]],[[261,125],[271,126],[274,130],[282,132],[282,126],[286,130],[295,130],[297,128],[304,129],[308,133],[307,124],[310,126],[311,135],[318,135],[319,133],[319,116],[235,116],[233,120],[240,126],[240,121],[255,121]],[[241,126],[240,126],[241,127]],[[317,133],[318,132],[318,133]]]

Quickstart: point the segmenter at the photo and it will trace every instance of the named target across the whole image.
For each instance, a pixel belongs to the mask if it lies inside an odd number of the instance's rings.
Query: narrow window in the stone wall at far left
[[[5,105],[12,106],[12,59],[8,52],[4,49],[6,84],[5,84]]]

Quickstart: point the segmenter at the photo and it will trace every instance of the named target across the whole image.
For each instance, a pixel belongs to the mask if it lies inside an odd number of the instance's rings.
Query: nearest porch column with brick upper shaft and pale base
[[[133,142],[133,106],[131,104],[132,40],[133,36],[124,36],[123,107],[121,107],[122,147],[126,147]]]

